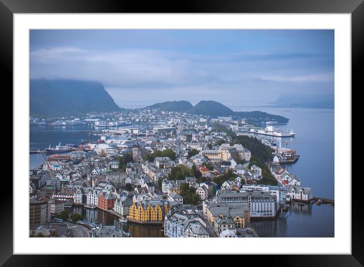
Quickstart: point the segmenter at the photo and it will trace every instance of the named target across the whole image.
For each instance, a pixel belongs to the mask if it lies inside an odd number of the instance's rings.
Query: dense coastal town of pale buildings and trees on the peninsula
[[[158,225],[170,238],[258,237],[252,221],[284,218],[291,202],[322,202],[285,168],[297,152],[259,134],[263,124],[276,131],[267,118],[144,108],[29,123],[90,125],[96,138],[31,152],[44,157],[29,170],[31,237],[133,237],[95,218],[86,222],[83,210]]]

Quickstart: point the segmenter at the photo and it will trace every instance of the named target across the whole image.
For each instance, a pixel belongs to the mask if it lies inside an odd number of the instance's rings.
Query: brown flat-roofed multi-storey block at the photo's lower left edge
[[[32,198],[29,200],[29,224],[50,222],[50,203],[48,198]]]

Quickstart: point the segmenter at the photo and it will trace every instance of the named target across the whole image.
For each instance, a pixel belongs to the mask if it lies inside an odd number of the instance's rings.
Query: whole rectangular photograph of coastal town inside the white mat
[[[335,29],[28,31],[28,238],[335,238]]]

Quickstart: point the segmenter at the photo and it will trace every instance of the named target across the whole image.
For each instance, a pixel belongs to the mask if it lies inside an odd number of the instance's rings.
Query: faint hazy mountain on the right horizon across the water
[[[301,108],[333,108],[335,97],[333,94],[283,94],[269,106],[276,107],[301,107]]]

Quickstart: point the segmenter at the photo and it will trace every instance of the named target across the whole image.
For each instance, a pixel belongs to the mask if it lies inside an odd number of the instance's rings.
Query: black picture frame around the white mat
[[[0,0],[0,47],[2,66],[2,81],[6,81],[8,88],[13,86],[13,14],[14,13],[351,13],[352,31],[352,90],[359,91],[359,82],[362,74],[361,60],[364,58],[364,3],[363,0],[204,0],[196,2],[169,2],[169,4],[156,2],[126,2],[126,1],[102,1],[102,0]],[[4,86],[5,87],[5,86]],[[3,87],[3,92],[4,92]],[[348,88],[350,90],[350,88]],[[10,94],[12,98],[12,94]],[[352,98],[355,100],[355,98]],[[356,101],[360,101],[356,98]],[[352,115],[355,115],[355,105],[352,103]],[[9,111],[8,111],[9,112]],[[360,118],[359,118],[360,120]],[[354,121],[354,120],[353,120]],[[351,134],[361,136],[363,131],[357,127]],[[13,140],[12,130],[2,133],[3,138]],[[348,136],[351,138],[351,136]],[[14,142],[14,140],[13,140]],[[361,151],[362,142],[356,144],[355,150]],[[16,159],[15,159],[16,160]],[[352,162],[358,163],[360,159],[352,157]],[[9,157],[7,159],[9,161]],[[14,162],[13,162],[14,164]],[[356,164],[358,166],[358,164]],[[360,166],[360,165],[359,165]],[[341,179],[351,179],[348,177]],[[355,182],[360,182],[360,176]],[[9,184],[10,182],[7,181]],[[354,180],[352,180],[354,182]],[[353,183],[352,183],[353,184]],[[357,189],[358,190],[358,189]],[[13,192],[7,187],[2,190],[3,201],[0,204],[0,218],[2,230],[0,230],[0,265],[3,266],[60,266],[68,264],[64,255],[13,255]],[[255,255],[259,257],[260,264],[288,265],[288,266],[362,266],[364,264],[364,216],[360,209],[360,192],[352,194],[352,253],[351,255]],[[336,225],[339,227],[340,225]],[[16,230],[16,229],[15,229]],[[313,244],[314,246],[314,244]],[[144,248],[145,249],[145,248]],[[143,250],[144,250],[143,249]],[[161,250],[162,252],[163,250]],[[244,248],[241,250],[244,252]],[[290,246],[287,253],[299,252]],[[41,251],[39,253],[42,253]],[[136,248],[138,253],[138,248]],[[244,256],[251,257],[251,256]],[[110,259],[110,256],[107,257]],[[179,257],[178,257],[179,258]],[[85,260],[94,261],[95,256],[83,257],[82,260],[72,259],[75,264],[85,264]],[[177,259],[174,258],[174,261]],[[185,258],[186,259],[186,258]],[[230,258],[231,259],[231,258]],[[111,259],[111,261],[113,261]],[[104,261],[106,263],[106,261]],[[243,264],[247,262],[237,259]],[[116,261],[114,264],[118,264]],[[162,262],[160,262],[163,264]],[[190,263],[186,263],[190,264]],[[229,264],[226,262],[226,264]]]

